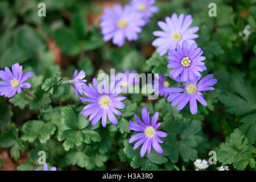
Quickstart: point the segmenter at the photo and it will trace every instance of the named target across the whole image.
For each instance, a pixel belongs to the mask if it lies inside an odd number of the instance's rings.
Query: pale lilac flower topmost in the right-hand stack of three
[[[158,26],[162,28],[163,31],[154,31],[153,35],[159,36],[152,42],[152,46],[158,47],[156,51],[160,56],[167,53],[168,49],[175,49],[176,43],[181,43],[187,40],[189,45],[196,43],[195,38],[199,36],[195,34],[199,30],[199,27],[188,28],[192,23],[192,16],[181,14],[179,18],[177,14],[172,14],[171,18],[166,17],[166,23],[159,21]]]

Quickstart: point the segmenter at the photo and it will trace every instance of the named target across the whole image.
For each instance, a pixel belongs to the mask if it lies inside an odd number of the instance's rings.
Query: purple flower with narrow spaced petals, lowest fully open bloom
[[[139,140],[137,143],[134,144],[133,150],[141,146],[141,157],[143,157],[147,151],[147,154],[150,154],[151,146],[155,149],[156,152],[159,154],[163,153],[163,149],[160,147],[159,143],[163,143],[162,140],[159,139],[159,137],[167,137],[167,134],[163,131],[157,131],[161,123],[157,123],[158,121],[158,112],[156,112],[153,117],[151,118],[150,122],[150,113],[147,112],[147,108],[144,107],[141,110],[141,116],[142,120],[137,117],[136,114],[134,114],[134,118],[138,123],[135,123],[133,121],[129,121],[130,126],[128,127],[130,130],[133,131],[140,131],[141,133],[133,135],[133,137],[130,138],[129,143],[133,143],[136,140]]]

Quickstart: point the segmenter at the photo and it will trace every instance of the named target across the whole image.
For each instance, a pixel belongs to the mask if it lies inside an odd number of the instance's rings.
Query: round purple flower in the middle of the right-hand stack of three
[[[181,76],[181,81],[187,81],[193,79],[194,77],[200,77],[199,72],[207,70],[203,60],[205,60],[203,51],[201,48],[196,48],[196,44],[192,44],[189,48],[187,41],[183,41],[182,47],[179,44],[176,44],[177,51],[175,49],[169,50],[169,63],[167,68],[173,68],[169,75],[176,78]]]

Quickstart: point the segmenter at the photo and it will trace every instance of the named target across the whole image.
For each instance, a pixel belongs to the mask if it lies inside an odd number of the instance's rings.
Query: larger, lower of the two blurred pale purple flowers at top
[[[142,13],[133,11],[129,5],[122,8],[119,4],[114,5],[113,10],[105,8],[104,12],[100,27],[105,42],[113,38],[113,44],[121,47],[125,39],[138,40],[138,33],[142,31],[141,26],[145,24]]]

